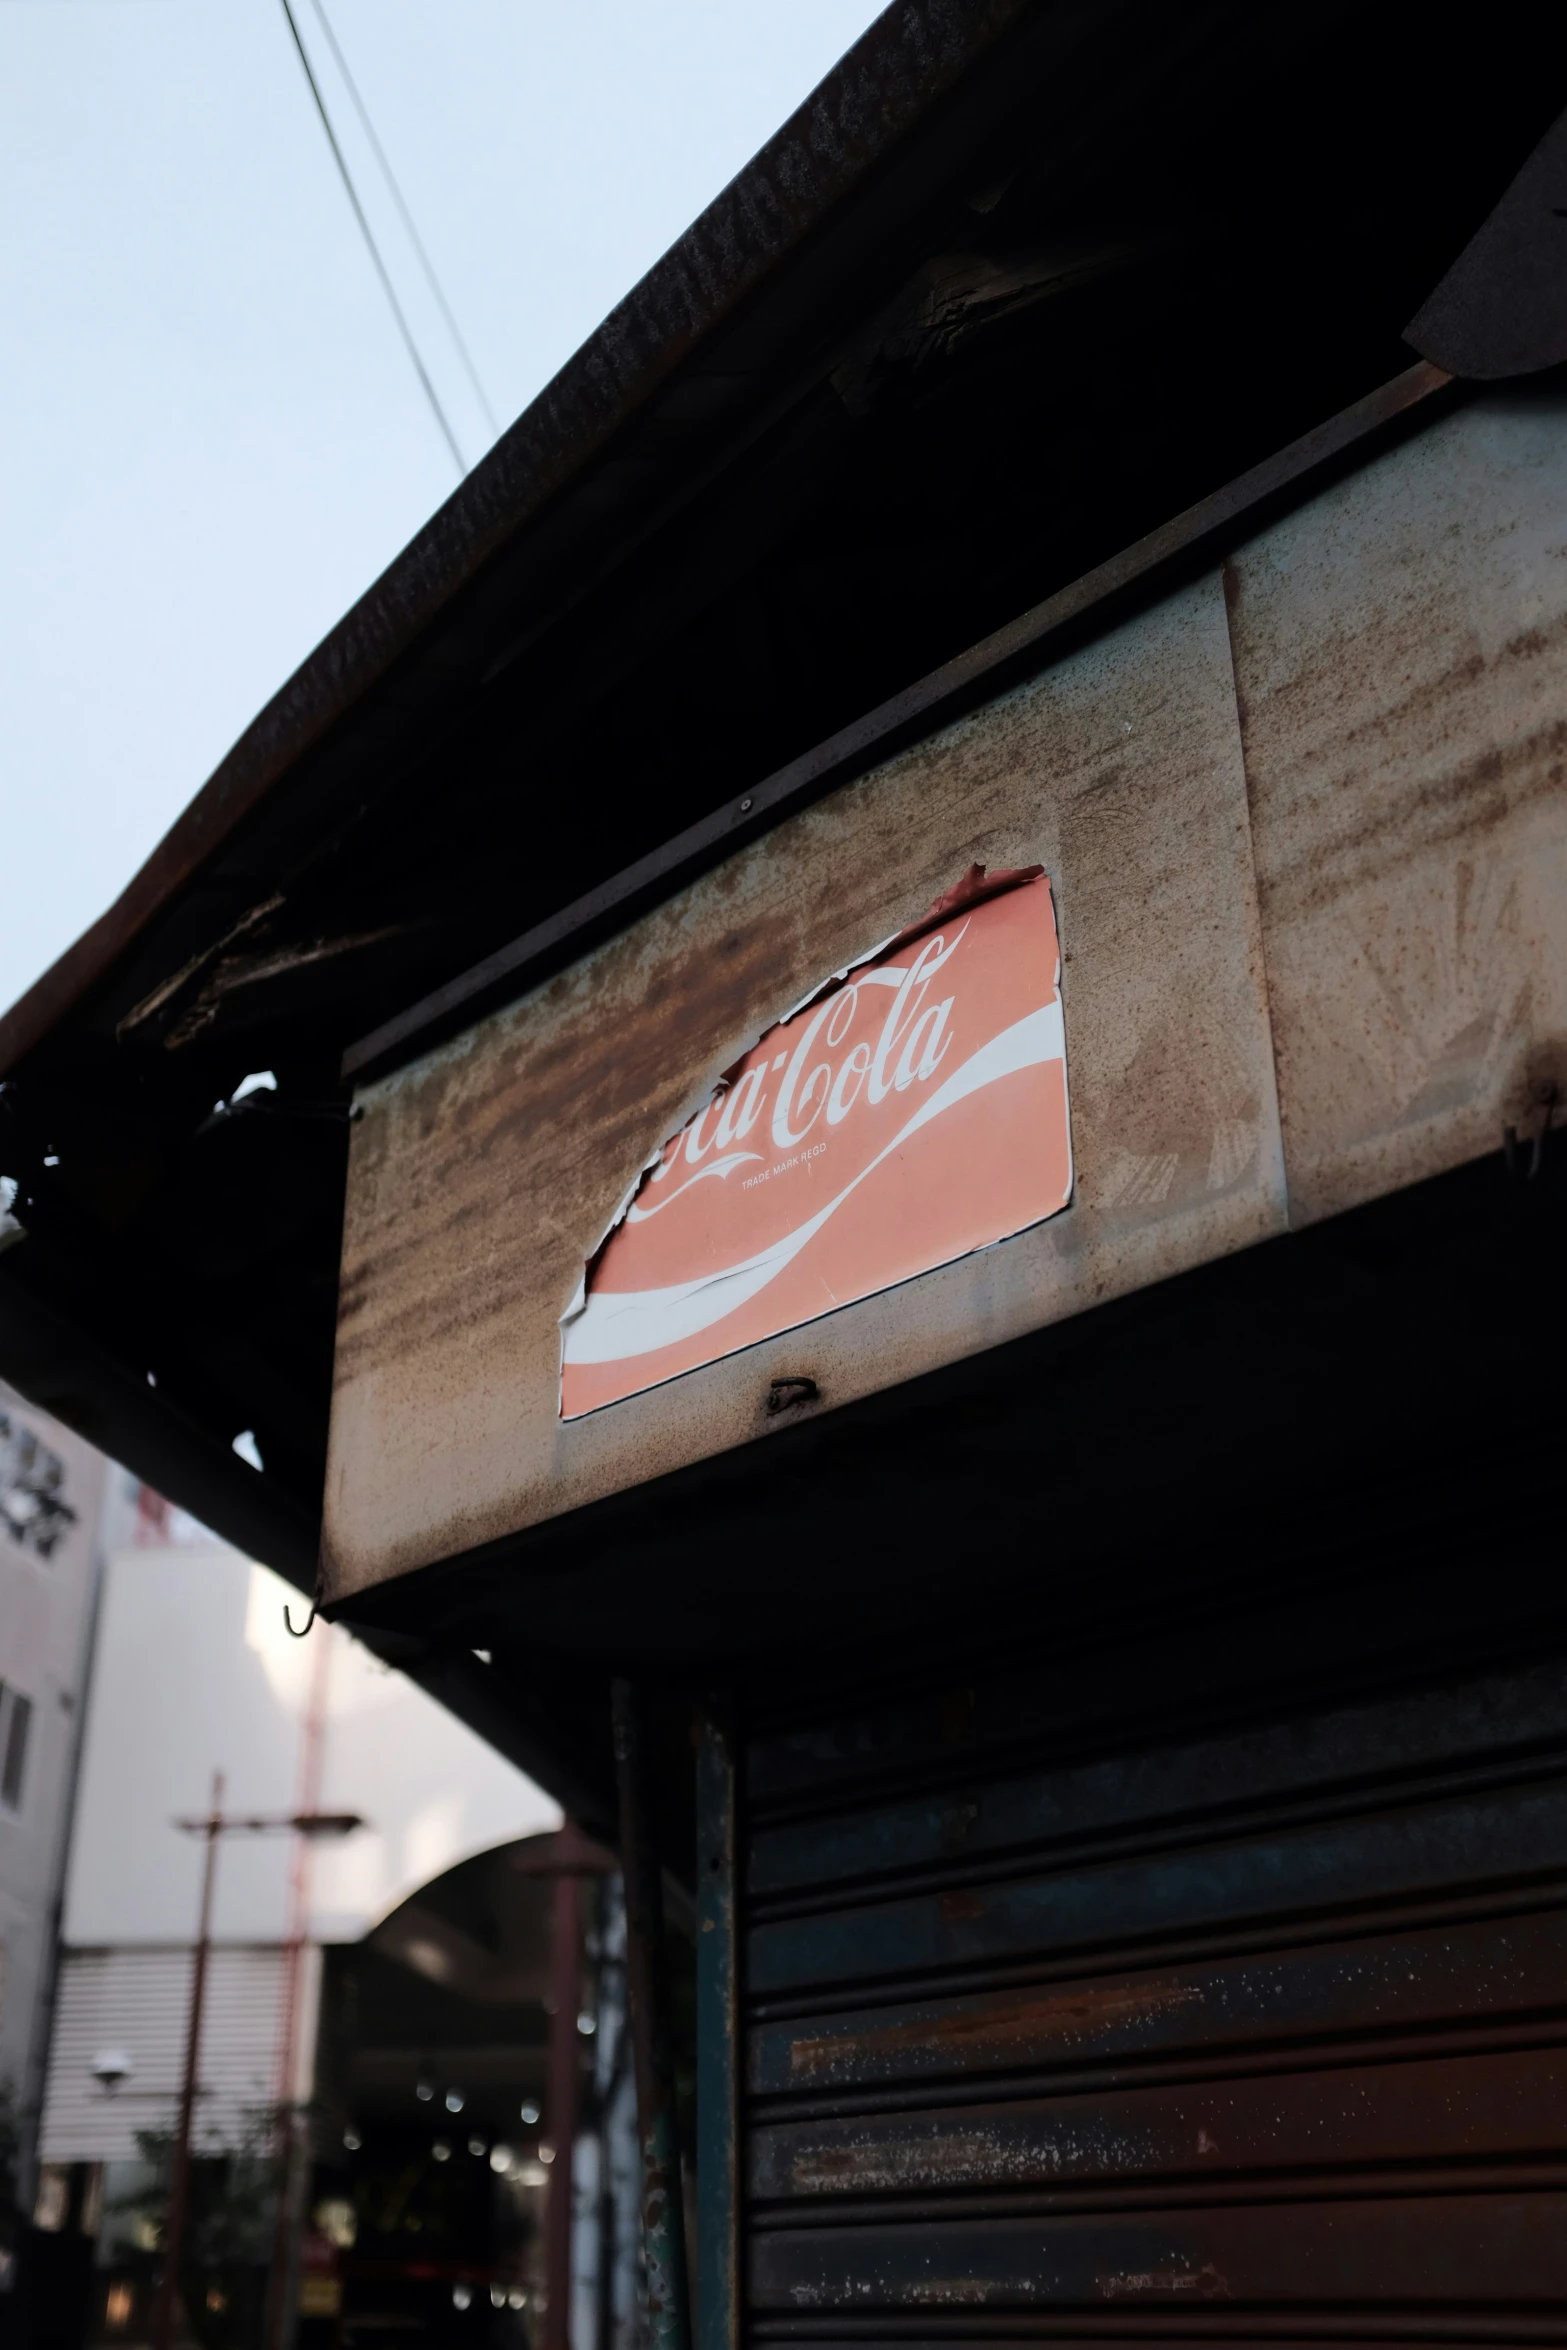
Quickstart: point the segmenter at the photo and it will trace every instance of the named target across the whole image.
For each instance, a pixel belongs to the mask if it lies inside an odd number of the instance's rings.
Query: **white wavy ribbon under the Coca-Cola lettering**
[[[935,1093],[926,1095],[907,1126],[876,1152],[869,1166],[860,1168],[855,1180],[843,1184],[839,1196],[818,1208],[796,1231],[787,1231],[754,1257],[728,1264],[719,1274],[698,1274],[695,1281],[674,1281],[658,1290],[590,1290],[583,1311],[564,1325],[566,1363],[623,1363],[627,1356],[653,1354],[655,1347],[674,1347],[679,1340],[695,1337],[712,1323],[724,1321],[726,1314],[756,1297],[801,1253],[806,1241],[822,1229],[827,1217],[843,1206],[850,1191],[900,1142],[919,1133],[921,1126],[928,1126],[944,1109],[951,1109],[982,1086],[994,1086],[996,1079],[1010,1076],[1015,1069],[1031,1069],[1041,1062],[1064,1058],[1067,1036],[1062,1029],[1062,1001],[1057,996],[1055,1003],[1043,1003],[1038,1010],[1027,1013],[1013,1027],[1001,1029],[998,1036],[980,1046],[977,1053],[970,1053]]]

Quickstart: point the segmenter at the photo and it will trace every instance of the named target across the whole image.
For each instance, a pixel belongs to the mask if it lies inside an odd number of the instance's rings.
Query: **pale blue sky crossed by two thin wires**
[[[510,423],[872,0],[327,0]],[[486,430],[334,120],[470,458]],[[280,0],[0,0],[0,1006],[453,486]]]

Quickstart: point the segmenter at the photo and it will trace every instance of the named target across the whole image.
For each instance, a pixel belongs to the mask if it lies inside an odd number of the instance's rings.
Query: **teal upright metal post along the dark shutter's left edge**
[[[707,1716],[695,1748],[698,2350],[740,2350],[735,1739]]]

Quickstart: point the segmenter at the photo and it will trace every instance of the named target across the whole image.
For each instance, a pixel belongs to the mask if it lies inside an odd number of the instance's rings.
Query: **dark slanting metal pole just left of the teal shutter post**
[[[686,2211],[674,2127],[665,1896],[653,1840],[644,1708],[618,1680],[616,1774],[620,1781],[620,1868],[625,1875],[625,1988],[637,2066],[641,2136],[641,2242],[648,2263],[651,2350],[691,2350]]]

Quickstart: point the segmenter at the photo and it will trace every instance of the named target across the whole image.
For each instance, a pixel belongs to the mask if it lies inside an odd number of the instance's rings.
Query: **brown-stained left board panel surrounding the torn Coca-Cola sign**
[[[1043,862],[1078,1198],[561,1426],[557,1323],[627,1182],[806,987],[970,862]],[[1060,879],[1057,879],[1060,877]],[[327,1593],[841,1403],[1285,1222],[1217,578],[740,851],[524,1003],[371,1086],[355,1128]]]

